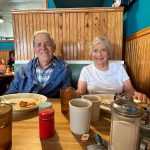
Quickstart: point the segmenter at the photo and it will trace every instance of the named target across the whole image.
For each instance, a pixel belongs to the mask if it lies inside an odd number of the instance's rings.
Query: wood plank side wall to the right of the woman
[[[125,63],[134,87],[150,97],[150,27],[126,39]]]

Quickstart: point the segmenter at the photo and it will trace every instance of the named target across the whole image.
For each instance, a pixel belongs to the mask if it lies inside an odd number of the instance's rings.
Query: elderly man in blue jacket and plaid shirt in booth
[[[59,97],[60,88],[71,85],[68,65],[53,55],[56,45],[47,31],[34,33],[33,48],[37,57],[20,68],[7,94],[39,93]]]

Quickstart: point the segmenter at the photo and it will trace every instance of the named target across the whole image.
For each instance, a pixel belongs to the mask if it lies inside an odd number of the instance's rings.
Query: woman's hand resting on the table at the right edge
[[[150,103],[150,99],[145,94],[142,94],[140,92],[134,92],[133,98],[138,99],[143,103]]]

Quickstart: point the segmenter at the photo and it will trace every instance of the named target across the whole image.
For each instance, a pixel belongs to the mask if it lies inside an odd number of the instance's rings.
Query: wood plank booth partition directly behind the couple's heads
[[[56,55],[64,60],[89,60],[89,46],[95,36],[107,36],[112,59],[122,59],[123,8],[75,8],[13,11],[15,59],[35,56],[32,35],[45,29],[56,41]]]

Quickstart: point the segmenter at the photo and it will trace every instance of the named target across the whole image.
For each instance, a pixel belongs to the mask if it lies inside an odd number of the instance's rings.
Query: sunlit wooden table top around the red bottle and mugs
[[[90,126],[90,138],[83,143],[81,135],[70,131],[69,115],[61,113],[59,99],[48,99],[55,110],[55,129],[53,137],[46,140],[39,138],[38,112],[32,111],[24,117],[14,117],[12,125],[12,150],[84,150],[88,145],[95,144],[93,134],[99,133],[107,142],[110,133],[110,114],[100,114],[100,120]]]

